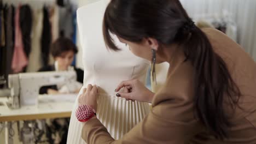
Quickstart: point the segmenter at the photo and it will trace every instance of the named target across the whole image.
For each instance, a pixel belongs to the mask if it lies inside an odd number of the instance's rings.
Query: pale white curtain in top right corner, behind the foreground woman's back
[[[256,1],[255,0],[181,0],[191,17],[218,15],[229,11],[237,25],[237,42],[256,61]]]

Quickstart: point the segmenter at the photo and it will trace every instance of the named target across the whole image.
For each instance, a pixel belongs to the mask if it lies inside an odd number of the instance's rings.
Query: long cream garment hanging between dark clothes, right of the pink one
[[[40,43],[43,30],[43,9],[33,9],[32,14],[31,53],[28,59],[27,72],[35,72],[43,67]]]

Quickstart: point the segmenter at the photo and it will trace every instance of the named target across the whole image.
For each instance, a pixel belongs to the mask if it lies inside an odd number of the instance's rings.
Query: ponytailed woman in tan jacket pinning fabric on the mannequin
[[[112,34],[136,56],[170,63],[166,84],[152,94],[137,80],[117,87],[117,96],[152,103],[153,110],[121,140],[113,140],[94,116],[87,119],[88,143],[256,143],[256,64],[240,45],[213,28],[194,25],[178,0],[112,0],[103,20],[104,40],[119,50]],[[96,103],[96,86],[79,97]],[[79,112],[79,111],[78,111]]]

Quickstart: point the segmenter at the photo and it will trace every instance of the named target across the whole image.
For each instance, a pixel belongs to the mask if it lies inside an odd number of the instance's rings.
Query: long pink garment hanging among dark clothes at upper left
[[[15,14],[15,44],[13,61],[11,63],[11,68],[14,73],[19,73],[26,67],[28,61],[26,54],[24,52],[24,45],[22,43],[22,34],[20,30],[20,5],[18,6]]]

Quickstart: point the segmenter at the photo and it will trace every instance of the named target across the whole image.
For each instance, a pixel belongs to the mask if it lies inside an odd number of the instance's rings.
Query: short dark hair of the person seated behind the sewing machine
[[[68,38],[60,37],[51,44],[51,54],[53,57],[58,57],[62,52],[67,51],[73,51],[74,54],[78,52],[77,46]]]

